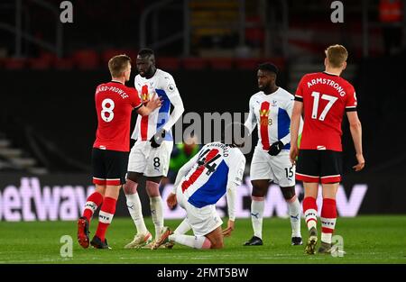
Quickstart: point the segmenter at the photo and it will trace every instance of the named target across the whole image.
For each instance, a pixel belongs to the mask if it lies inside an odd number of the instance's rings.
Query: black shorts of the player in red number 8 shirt
[[[118,150],[92,150],[93,183],[97,185],[119,186],[125,184],[128,152]]]

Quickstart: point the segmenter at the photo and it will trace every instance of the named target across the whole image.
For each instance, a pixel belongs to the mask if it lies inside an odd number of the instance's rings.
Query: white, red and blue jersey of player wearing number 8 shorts
[[[169,73],[157,68],[151,78],[137,75],[134,85],[143,103],[147,103],[152,95],[156,93],[156,96],[161,98],[161,107],[155,109],[149,115],[137,118],[131,138],[139,141],[148,141],[155,132],[164,128],[167,131],[165,140],[172,141],[171,127],[183,113],[183,103],[173,77]],[[173,105],[172,114],[170,114],[171,105]]]

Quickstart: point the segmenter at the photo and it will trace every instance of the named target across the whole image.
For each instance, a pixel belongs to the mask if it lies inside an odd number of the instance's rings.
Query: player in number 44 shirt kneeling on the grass
[[[179,203],[187,216],[174,232],[165,227],[152,249],[171,241],[195,249],[223,248],[223,236],[234,230],[235,189],[245,170],[245,156],[237,147],[235,143],[208,143],[180,168],[167,203],[170,208]],[[216,203],[225,194],[229,220],[222,232]],[[184,234],[189,228],[194,236]]]

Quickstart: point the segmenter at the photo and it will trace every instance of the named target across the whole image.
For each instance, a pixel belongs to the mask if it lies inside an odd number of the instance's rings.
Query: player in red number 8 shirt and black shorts
[[[112,80],[96,88],[96,141],[92,150],[93,183],[96,191],[88,197],[83,216],[78,219],[78,242],[88,248],[88,225],[101,205],[96,235],[90,244],[97,249],[109,249],[106,229],[113,220],[120,187],[125,184],[128,152],[130,150],[131,113],[147,115],[161,106],[153,97],[143,105],[137,91],[125,86],[131,74],[131,59],[118,55],[108,61]],[[103,205],[102,205],[103,204]]]

